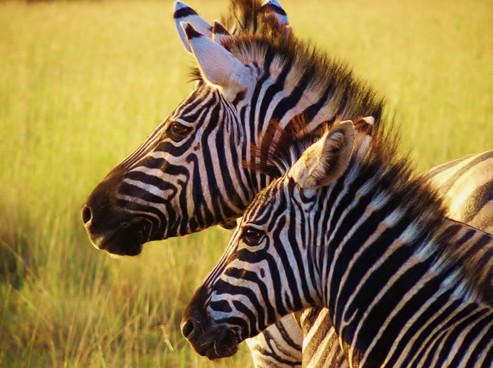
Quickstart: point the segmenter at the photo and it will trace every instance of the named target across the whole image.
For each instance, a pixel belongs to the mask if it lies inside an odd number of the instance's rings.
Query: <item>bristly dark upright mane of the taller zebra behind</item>
[[[300,40],[294,32],[286,32],[285,25],[263,10],[259,0],[232,0],[230,13],[223,17],[223,22],[229,29],[241,27],[221,45],[242,63],[263,67],[266,76],[285,72],[286,85],[309,91],[304,96],[312,105],[304,111],[309,121],[322,106],[319,99],[325,97],[330,106],[324,108],[336,109],[341,120],[372,116],[375,125],[380,124],[384,98],[367,82],[355,78],[345,62]],[[192,79],[201,80],[200,74],[196,67],[191,72]]]

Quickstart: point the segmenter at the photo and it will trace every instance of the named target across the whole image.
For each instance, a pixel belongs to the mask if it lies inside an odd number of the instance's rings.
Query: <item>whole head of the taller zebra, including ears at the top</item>
[[[256,28],[229,24],[233,34],[263,32],[264,22],[280,36],[290,35],[276,0],[262,6],[254,1],[250,7],[257,12],[249,18]],[[92,244],[112,254],[134,256],[148,241],[234,223],[257,190],[256,178],[241,167],[252,137],[240,124],[240,114],[259,68],[222,46],[234,36],[219,22],[209,25],[181,2],[175,4],[175,22],[197,62],[196,88],[111,170],[82,207]]]

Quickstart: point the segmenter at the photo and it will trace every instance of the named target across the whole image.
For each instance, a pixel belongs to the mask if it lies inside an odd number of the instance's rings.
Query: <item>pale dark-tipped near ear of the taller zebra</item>
[[[249,70],[221,45],[197,32],[189,23],[181,23],[200,72],[208,82],[226,87],[247,86]]]

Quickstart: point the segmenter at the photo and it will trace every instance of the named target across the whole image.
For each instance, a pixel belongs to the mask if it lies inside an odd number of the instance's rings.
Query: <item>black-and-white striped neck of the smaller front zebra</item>
[[[478,304],[489,310],[464,275],[465,260],[450,260],[446,249],[457,236],[444,231],[449,222],[437,203],[426,203],[420,192],[426,188],[396,178],[393,184],[391,171],[371,179],[349,171],[319,191],[324,205],[313,218],[323,220],[314,229],[325,237],[313,254],[325,306],[350,359],[370,351],[385,357],[424,316],[470,313]]]

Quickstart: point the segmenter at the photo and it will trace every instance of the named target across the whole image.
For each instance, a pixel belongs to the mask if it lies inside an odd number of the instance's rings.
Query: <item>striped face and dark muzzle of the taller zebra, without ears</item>
[[[251,200],[232,104],[200,86],[94,189],[82,212],[92,243],[135,255],[141,244],[240,216]]]

